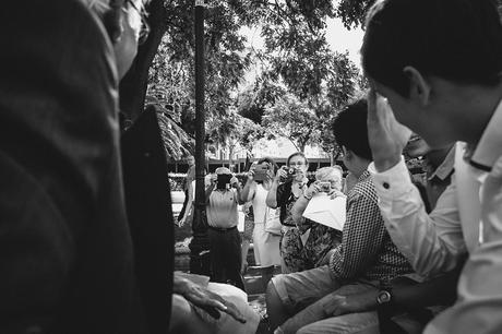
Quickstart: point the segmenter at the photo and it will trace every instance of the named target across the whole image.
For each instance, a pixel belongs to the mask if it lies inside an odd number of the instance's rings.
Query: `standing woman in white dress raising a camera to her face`
[[[254,261],[261,266],[280,264],[279,240],[280,236],[265,230],[265,220],[270,214],[266,206],[266,196],[272,188],[277,165],[271,158],[261,158],[252,165],[248,172],[248,181],[242,189],[242,200],[252,204],[254,216],[253,247]]]

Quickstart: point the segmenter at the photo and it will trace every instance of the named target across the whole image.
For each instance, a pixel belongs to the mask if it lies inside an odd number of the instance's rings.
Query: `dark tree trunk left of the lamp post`
[[[144,109],[150,65],[167,29],[164,0],[152,0],[147,11],[151,27],[148,39],[140,46],[131,69],[120,82],[120,109],[131,121]]]

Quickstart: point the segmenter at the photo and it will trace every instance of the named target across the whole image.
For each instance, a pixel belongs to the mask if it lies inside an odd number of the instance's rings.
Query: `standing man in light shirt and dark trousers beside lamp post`
[[[231,283],[244,290],[241,271],[237,205],[241,201],[239,181],[226,167],[216,168],[206,189],[206,215],[211,249],[212,279]]]

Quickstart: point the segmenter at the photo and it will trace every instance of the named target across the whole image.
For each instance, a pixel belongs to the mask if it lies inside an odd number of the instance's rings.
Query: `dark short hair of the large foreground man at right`
[[[402,96],[407,65],[458,83],[499,83],[502,25],[491,0],[378,0],[366,25],[366,74]]]

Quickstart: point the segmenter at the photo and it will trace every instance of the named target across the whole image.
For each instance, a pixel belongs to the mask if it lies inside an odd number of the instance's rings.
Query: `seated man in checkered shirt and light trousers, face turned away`
[[[279,275],[270,283],[267,310],[271,325],[280,325],[278,333],[296,333],[298,330],[309,333],[378,332],[376,312],[326,319],[331,314],[324,311],[324,305],[333,298],[328,294],[339,288],[356,293],[413,273],[389,237],[380,215],[374,186],[367,170],[371,151],[366,119],[367,103],[360,100],[342,111],[333,126],[336,141],[344,151],[344,163],[358,177],[358,182],[347,195],[343,240],[330,264]],[[311,193],[307,191],[304,196],[309,199]]]

